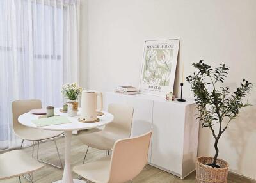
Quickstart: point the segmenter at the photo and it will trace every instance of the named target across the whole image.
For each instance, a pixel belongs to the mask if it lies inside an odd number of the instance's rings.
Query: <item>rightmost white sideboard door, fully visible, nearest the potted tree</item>
[[[182,174],[185,107],[154,101],[151,162]]]

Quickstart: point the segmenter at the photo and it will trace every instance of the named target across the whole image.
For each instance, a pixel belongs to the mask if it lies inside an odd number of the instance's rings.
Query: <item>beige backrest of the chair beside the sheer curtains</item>
[[[20,115],[24,113],[28,113],[31,109],[39,109],[42,108],[42,102],[38,99],[29,99],[29,100],[16,100],[12,102],[12,122],[13,122],[13,130],[20,127],[20,123],[18,122],[18,118]]]

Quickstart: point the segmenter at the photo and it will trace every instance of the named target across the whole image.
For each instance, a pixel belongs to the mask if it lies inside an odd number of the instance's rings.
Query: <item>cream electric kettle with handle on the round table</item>
[[[99,97],[99,106],[98,99]],[[97,111],[102,111],[102,93],[90,90],[83,90],[81,98],[80,120],[93,122],[97,120]]]

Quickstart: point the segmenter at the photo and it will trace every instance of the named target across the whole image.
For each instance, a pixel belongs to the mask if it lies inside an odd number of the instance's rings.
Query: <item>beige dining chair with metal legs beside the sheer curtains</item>
[[[56,168],[63,168],[63,164],[61,162],[60,153],[56,144],[55,137],[63,134],[63,131],[50,131],[50,130],[42,130],[42,129],[34,129],[31,127],[26,127],[18,122],[18,118],[20,115],[29,112],[31,109],[39,109],[42,108],[41,100],[38,99],[29,99],[29,100],[16,100],[12,102],[12,113],[13,113],[13,131],[15,134],[22,139],[22,143],[20,145],[20,149],[22,148],[24,140],[32,141],[32,157],[34,155],[34,144],[37,141],[37,157],[36,159],[40,162],[49,164]],[[54,139],[54,144],[57,150],[58,158],[60,160],[61,166],[57,166],[56,164],[51,164],[47,161],[43,161],[39,159],[39,144],[40,141],[44,139]]]

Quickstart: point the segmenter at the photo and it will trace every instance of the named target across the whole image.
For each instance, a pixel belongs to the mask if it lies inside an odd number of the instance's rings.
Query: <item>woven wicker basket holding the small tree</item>
[[[198,157],[196,163],[196,183],[227,183],[228,163],[222,159],[217,159],[216,164],[220,168],[212,168],[205,165],[212,162],[212,157]]]

